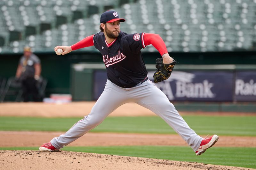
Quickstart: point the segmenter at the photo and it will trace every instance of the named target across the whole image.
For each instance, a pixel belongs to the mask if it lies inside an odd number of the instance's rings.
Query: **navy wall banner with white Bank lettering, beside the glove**
[[[148,78],[152,81],[154,72],[148,72]],[[173,71],[169,79],[157,83],[156,86],[169,100],[233,100],[233,73],[228,71]]]

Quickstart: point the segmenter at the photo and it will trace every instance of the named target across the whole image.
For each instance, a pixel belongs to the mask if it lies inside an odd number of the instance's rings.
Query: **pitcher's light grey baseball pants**
[[[128,102],[138,103],[160,116],[196,152],[203,138],[188,126],[166,95],[150,80],[132,88],[122,88],[107,80],[104,91],[92,107],[91,113],[65,134],[54,137],[51,140],[52,145],[57,149],[63,148],[99,125],[117,107]]]

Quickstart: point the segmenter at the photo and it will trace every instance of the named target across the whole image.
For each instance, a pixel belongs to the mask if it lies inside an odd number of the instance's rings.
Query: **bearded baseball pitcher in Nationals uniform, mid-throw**
[[[72,46],[54,48],[55,51],[61,48],[62,55],[65,55],[79,48],[94,46],[101,53],[108,80],[91,113],[65,134],[43,144],[39,151],[60,150],[99,125],[117,107],[128,102],[146,107],[164,119],[191,146],[196,155],[201,155],[219,139],[217,135],[204,139],[198,136],[179,115],[166,95],[148,79],[140,51],[147,45],[152,44],[162,56],[156,59],[155,83],[169,78],[176,64],[169,56],[163,39],[152,33],[124,33],[120,31],[120,23],[124,21],[125,19],[119,18],[116,11],[106,11],[100,17],[99,33],[88,36]]]

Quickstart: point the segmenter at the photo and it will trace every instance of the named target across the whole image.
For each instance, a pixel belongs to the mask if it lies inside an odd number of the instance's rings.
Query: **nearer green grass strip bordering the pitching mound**
[[[38,147],[11,147],[0,150],[38,150]],[[212,147],[201,156],[196,156],[186,146],[67,146],[63,150],[256,168],[256,148]]]

